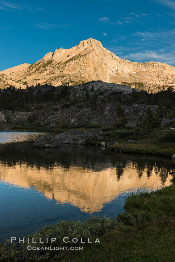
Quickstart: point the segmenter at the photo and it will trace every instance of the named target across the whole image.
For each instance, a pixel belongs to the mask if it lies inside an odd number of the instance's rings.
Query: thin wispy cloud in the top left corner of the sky
[[[8,1],[0,1],[0,10],[4,11],[15,11],[15,10],[28,10],[28,11],[33,11],[33,10],[42,10],[44,11],[43,8],[41,7],[31,7],[28,5],[23,5],[23,4],[16,4],[13,2],[8,2]]]

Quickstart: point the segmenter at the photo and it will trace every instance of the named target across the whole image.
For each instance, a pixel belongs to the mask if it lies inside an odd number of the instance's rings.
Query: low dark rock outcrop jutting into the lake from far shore
[[[87,138],[100,139],[103,133],[103,131],[98,129],[89,129],[86,131],[68,130],[56,136],[44,135],[35,141],[32,147],[58,147],[61,146],[61,144],[85,145],[89,144],[88,141],[86,141]]]

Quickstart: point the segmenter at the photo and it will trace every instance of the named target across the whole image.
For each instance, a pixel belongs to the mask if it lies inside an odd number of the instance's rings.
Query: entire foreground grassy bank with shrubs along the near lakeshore
[[[155,192],[137,192],[127,197],[126,212],[117,219],[95,217],[85,222],[60,221],[54,226],[44,227],[40,232],[28,236],[30,243],[20,246],[9,242],[0,245],[0,261],[155,261],[172,262],[175,257],[175,176],[173,184]],[[93,243],[64,244],[63,237],[69,239],[91,238]],[[27,251],[27,246],[34,246],[31,238],[50,239],[56,237],[51,245],[82,246],[82,251]],[[94,243],[98,237],[100,243]]]

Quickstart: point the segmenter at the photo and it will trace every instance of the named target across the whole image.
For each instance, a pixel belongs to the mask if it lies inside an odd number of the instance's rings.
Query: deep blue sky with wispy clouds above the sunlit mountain
[[[0,0],[0,70],[90,37],[121,58],[175,66],[175,0]]]

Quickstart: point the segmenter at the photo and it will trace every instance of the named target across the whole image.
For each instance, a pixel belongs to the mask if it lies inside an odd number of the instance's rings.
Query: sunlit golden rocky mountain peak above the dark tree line
[[[77,86],[92,80],[157,92],[162,86],[175,87],[175,68],[166,63],[119,58],[100,41],[90,38],[72,48],[49,52],[31,65],[24,63],[0,72],[0,88],[38,83]]]

